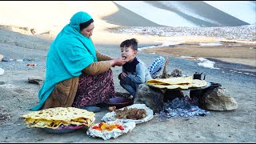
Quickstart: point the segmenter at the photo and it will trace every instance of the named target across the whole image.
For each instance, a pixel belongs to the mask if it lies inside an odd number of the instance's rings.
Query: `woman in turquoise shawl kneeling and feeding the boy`
[[[47,54],[46,78],[38,92],[39,104],[30,110],[104,102],[115,94],[111,66],[125,58],[111,58],[94,49],[90,36],[94,20],[78,12],[54,39]]]

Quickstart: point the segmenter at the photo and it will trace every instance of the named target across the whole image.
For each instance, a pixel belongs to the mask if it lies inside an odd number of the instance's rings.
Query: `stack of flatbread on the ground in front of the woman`
[[[94,112],[74,107],[55,107],[22,115],[28,127],[57,129],[58,126],[94,124]]]

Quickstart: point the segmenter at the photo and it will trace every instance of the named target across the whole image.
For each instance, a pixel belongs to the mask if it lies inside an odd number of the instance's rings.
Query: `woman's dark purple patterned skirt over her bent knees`
[[[82,108],[95,105],[113,98],[114,94],[112,70],[94,76],[82,74],[79,77],[78,91],[72,106]]]

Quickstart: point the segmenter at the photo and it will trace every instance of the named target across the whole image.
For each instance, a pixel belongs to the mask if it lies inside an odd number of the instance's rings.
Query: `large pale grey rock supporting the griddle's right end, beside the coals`
[[[202,107],[206,110],[235,110],[238,103],[224,88],[217,87],[207,90],[200,98]]]

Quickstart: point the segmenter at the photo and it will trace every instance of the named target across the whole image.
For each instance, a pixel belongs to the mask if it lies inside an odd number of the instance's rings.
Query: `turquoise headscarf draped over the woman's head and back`
[[[54,39],[47,54],[46,78],[38,92],[39,104],[30,110],[40,110],[58,82],[78,77],[92,62],[97,62],[96,50],[90,38],[80,34],[80,23],[91,19],[78,12]]]

